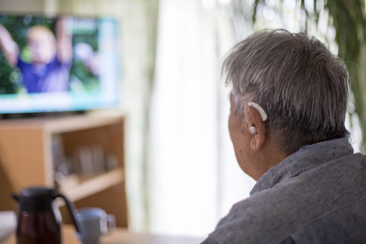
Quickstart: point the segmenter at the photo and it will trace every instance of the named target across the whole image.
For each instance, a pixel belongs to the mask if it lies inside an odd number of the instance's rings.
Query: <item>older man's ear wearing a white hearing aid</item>
[[[253,107],[246,107],[246,116],[247,121],[250,123],[249,127],[254,126],[257,130],[256,134],[252,134],[250,132],[248,133],[250,137],[250,148],[253,151],[258,151],[262,148],[265,141],[265,124],[262,121],[262,118],[259,115],[258,111]]]

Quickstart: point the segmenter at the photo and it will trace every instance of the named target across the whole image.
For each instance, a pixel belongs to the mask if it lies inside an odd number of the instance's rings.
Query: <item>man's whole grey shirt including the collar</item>
[[[366,158],[346,138],[268,170],[203,244],[366,243]]]

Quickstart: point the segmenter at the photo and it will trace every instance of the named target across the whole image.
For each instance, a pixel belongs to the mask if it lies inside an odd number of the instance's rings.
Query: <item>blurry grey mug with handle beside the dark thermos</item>
[[[116,227],[114,215],[107,214],[102,208],[85,207],[74,213],[79,232],[76,234],[81,244],[99,244],[101,235]]]

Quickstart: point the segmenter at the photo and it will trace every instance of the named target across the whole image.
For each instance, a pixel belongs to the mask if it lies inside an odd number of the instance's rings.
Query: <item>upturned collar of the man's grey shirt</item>
[[[272,188],[277,183],[329,160],[349,154],[353,154],[353,148],[347,138],[305,145],[265,172],[250,191],[250,195]]]

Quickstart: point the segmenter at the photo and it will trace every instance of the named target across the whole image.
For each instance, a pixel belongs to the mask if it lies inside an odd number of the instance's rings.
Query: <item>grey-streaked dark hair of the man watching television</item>
[[[233,87],[235,113],[243,118],[247,102],[260,104],[282,152],[349,135],[346,65],[314,37],[286,30],[256,33],[234,46],[222,72]]]

